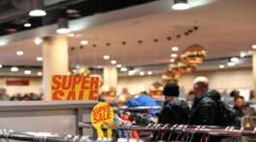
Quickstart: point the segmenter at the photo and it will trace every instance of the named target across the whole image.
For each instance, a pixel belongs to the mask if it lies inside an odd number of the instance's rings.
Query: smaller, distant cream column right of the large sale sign
[[[114,65],[104,66],[103,69],[103,79],[104,79],[104,86],[109,88],[117,87],[117,67]]]

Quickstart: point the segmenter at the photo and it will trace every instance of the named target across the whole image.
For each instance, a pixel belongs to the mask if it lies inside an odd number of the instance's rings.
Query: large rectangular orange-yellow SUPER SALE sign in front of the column
[[[55,75],[51,80],[52,100],[97,100],[98,77]]]

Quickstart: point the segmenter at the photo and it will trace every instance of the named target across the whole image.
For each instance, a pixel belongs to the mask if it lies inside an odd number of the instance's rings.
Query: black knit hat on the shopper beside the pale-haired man
[[[162,93],[164,96],[178,97],[180,94],[179,85],[177,83],[166,83]]]

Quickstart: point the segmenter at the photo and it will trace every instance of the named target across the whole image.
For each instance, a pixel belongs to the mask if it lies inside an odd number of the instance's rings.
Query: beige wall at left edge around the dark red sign
[[[6,85],[7,80],[29,80],[29,85]],[[0,77],[0,88],[6,88],[7,94],[14,95],[15,93],[41,93],[42,79],[41,78],[24,78],[24,77]]]

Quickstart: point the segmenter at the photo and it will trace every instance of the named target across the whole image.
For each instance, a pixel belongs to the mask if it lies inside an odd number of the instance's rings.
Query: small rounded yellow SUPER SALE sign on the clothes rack
[[[107,103],[99,103],[91,113],[91,121],[99,138],[112,138],[112,130],[102,130],[102,126],[114,123],[114,109]]]

